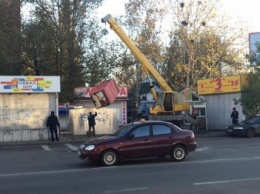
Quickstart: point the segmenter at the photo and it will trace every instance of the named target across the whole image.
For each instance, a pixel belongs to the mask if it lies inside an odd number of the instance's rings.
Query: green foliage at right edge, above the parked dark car
[[[235,104],[241,104],[243,113],[247,116],[260,114],[260,69],[256,68],[248,74],[248,85],[243,87],[241,99],[234,99]]]

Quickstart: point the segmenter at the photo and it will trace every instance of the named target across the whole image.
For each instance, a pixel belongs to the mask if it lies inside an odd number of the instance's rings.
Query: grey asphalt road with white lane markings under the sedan
[[[184,162],[85,164],[77,143],[0,147],[2,194],[254,194],[260,189],[260,137],[197,138]]]

